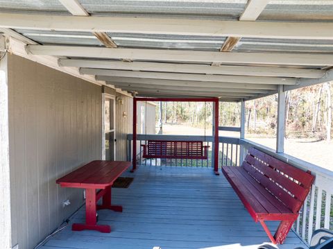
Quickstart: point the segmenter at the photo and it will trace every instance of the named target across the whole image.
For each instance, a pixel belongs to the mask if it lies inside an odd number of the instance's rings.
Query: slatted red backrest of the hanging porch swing
[[[148,140],[149,155],[202,156],[203,141],[159,141]]]

